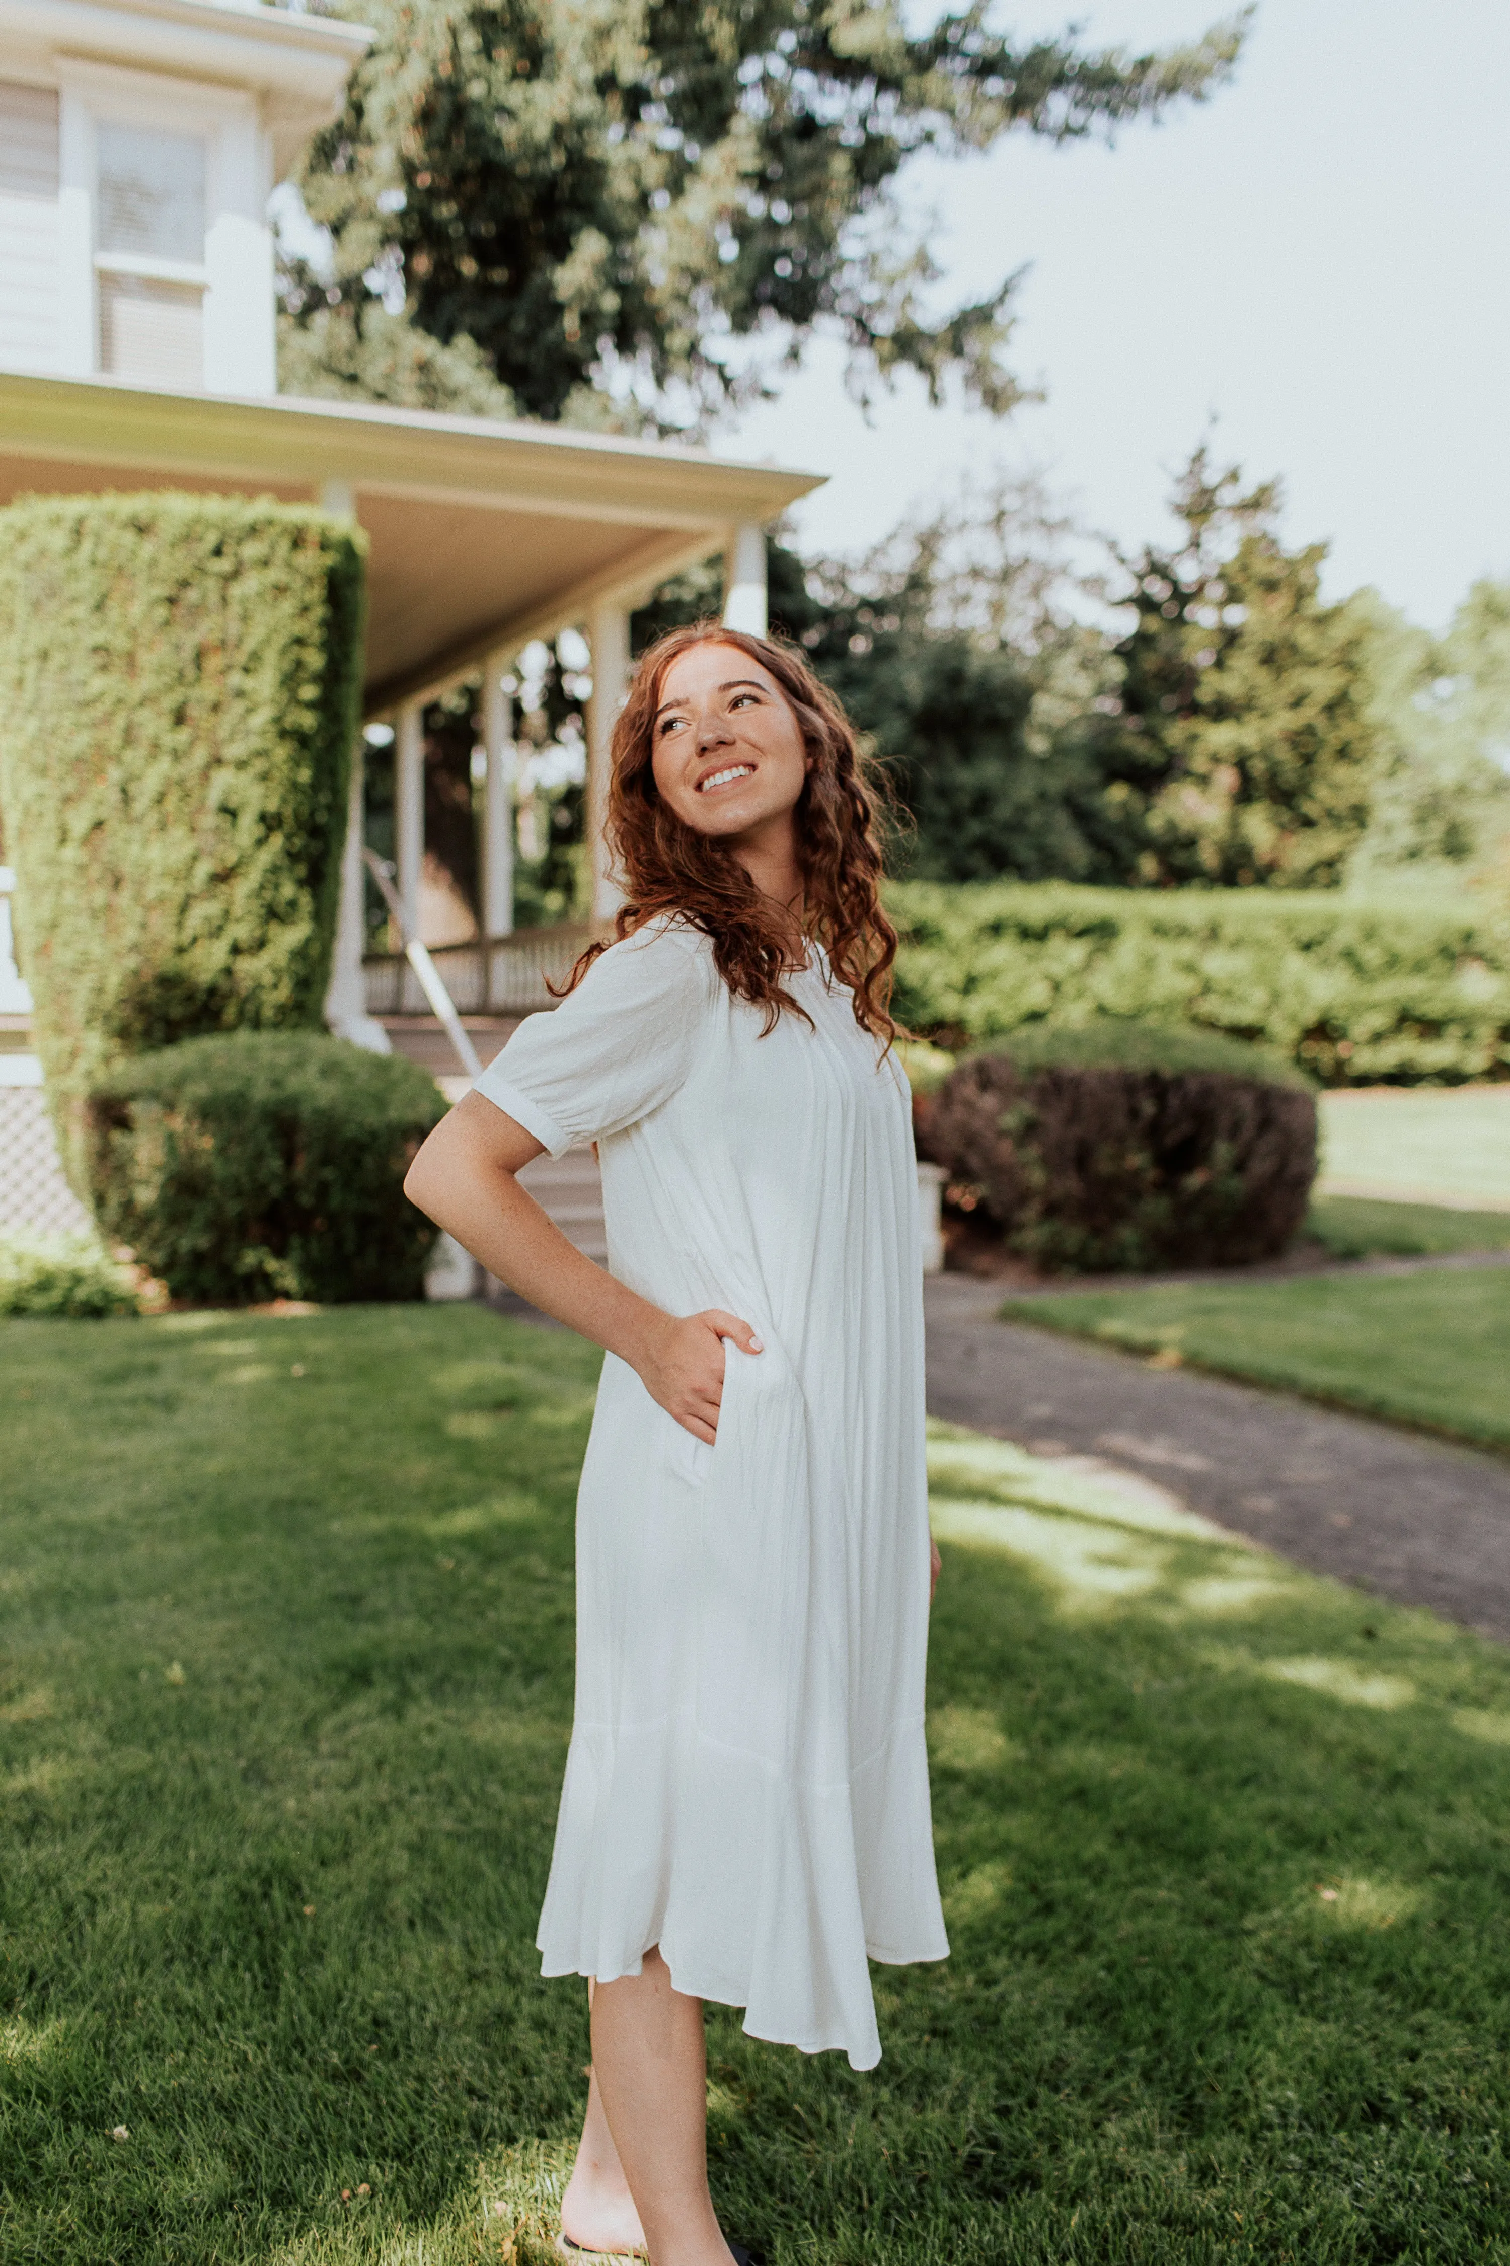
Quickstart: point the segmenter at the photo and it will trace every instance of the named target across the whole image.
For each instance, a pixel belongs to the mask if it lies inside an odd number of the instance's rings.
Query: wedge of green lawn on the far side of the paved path
[[[1510,1267],[1050,1292],[1001,1317],[1510,1448]]]

